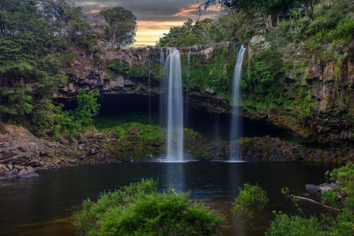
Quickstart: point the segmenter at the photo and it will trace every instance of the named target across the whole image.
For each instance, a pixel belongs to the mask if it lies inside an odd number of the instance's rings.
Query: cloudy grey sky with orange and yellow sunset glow
[[[188,18],[196,21],[199,13],[196,9],[203,0],[74,0],[76,5],[82,5],[83,11],[89,16],[96,15],[104,8],[116,6],[133,12],[136,16],[138,29],[136,32],[136,42],[133,46],[155,45],[159,37],[168,33],[170,28],[181,26]],[[219,8],[213,7],[203,18],[216,20],[221,16]]]

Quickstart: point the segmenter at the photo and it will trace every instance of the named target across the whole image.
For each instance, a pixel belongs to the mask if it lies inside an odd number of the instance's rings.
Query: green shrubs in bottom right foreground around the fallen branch
[[[269,228],[260,223],[255,223],[256,216],[253,208],[263,212],[267,207],[268,199],[266,192],[258,185],[245,184],[244,189],[239,188],[240,194],[235,198],[233,212],[240,215],[250,225],[255,228],[265,230],[265,235],[352,235],[354,227],[354,164],[348,163],[346,166],[333,169],[331,172],[331,180],[336,181],[337,190],[323,191],[324,203],[332,206],[338,206],[337,191],[344,191],[348,195],[343,201],[343,208],[336,216],[321,215],[321,219],[312,216],[306,217],[302,209],[297,204],[297,199],[291,197],[288,188],[281,189],[282,193],[289,197],[301,215],[287,215],[282,212],[273,211],[275,219],[264,222],[269,224]],[[259,221],[257,221],[259,222]]]

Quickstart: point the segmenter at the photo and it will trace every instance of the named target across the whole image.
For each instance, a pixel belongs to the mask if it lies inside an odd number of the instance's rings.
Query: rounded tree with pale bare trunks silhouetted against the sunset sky
[[[134,39],[137,25],[136,17],[131,11],[123,7],[114,7],[99,12],[107,22],[107,39],[113,44],[129,46],[136,40]]]

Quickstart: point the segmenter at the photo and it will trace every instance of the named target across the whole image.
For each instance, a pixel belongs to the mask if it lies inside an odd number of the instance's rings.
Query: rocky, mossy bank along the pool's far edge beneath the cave
[[[156,128],[156,127],[155,127]],[[123,135],[87,131],[78,139],[36,138],[27,129],[6,125],[0,135],[0,172],[6,178],[35,176],[35,171],[98,163],[140,162],[163,159],[166,152],[163,132],[128,127]],[[153,137],[153,139],[151,139]],[[205,138],[184,128],[187,160],[228,160],[230,146],[238,146],[240,160],[266,162],[354,161],[354,149],[314,149],[287,143],[277,137],[242,137],[235,142]]]

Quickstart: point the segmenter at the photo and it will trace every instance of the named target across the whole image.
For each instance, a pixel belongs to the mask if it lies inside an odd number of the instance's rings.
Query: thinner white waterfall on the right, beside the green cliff
[[[238,45],[239,46],[239,45]],[[245,54],[245,48],[241,44],[238,47],[238,52],[235,61],[234,68],[234,77],[233,77],[233,88],[232,88],[232,120],[231,120],[231,129],[230,129],[230,141],[231,143],[235,141],[235,139],[240,138],[242,135],[242,117],[241,117],[241,69],[242,69],[242,61]],[[239,145],[230,145],[230,160],[237,161],[240,160],[240,149]]]

